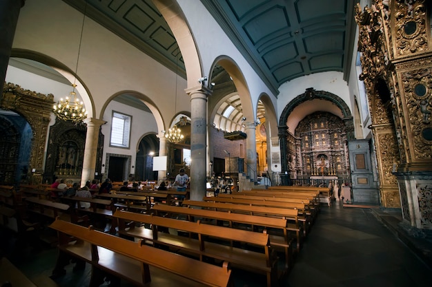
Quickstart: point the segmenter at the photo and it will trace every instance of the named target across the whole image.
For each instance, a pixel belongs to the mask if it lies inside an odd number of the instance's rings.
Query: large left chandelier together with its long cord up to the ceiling
[[[77,66],[75,67],[75,75],[77,75],[78,71],[78,63],[79,63],[79,53],[81,52],[81,43],[83,39],[83,31],[84,31],[84,21],[86,20],[86,10],[87,10],[87,1],[86,6],[84,8],[84,16],[83,16],[83,23],[81,25],[81,35],[79,37],[79,47],[78,47],[78,56],[77,56]],[[84,108],[84,103],[82,100],[79,100],[77,98],[77,93],[75,92],[75,87],[77,85],[75,84],[77,81],[77,76],[75,76],[74,83],[72,84],[72,92],[70,92],[70,96],[66,96],[66,98],[63,100],[63,98],[60,98],[59,102],[57,102],[57,105],[53,105],[53,112],[57,118],[60,120],[70,120],[75,125],[80,124],[83,122],[84,119],[87,118],[87,111]]]

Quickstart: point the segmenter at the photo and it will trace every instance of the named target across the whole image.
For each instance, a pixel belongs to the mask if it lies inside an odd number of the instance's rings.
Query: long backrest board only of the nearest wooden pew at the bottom
[[[230,282],[231,271],[228,270],[228,264],[223,264],[221,268],[204,262],[197,262],[195,259],[146,246],[141,244],[141,241],[132,242],[115,235],[96,231],[91,226],[86,228],[63,220],[55,220],[50,225],[50,228],[59,231],[59,233],[89,242],[93,246],[104,247],[139,262],[170,271],[208,286],[228,286]],[[64,240],[60,240],[59,243],[63,246],[68,244]],[[97,262],[97,258],[93,259],[92,261]],[[190,272],[190,266],[193,266],[193,272]]]

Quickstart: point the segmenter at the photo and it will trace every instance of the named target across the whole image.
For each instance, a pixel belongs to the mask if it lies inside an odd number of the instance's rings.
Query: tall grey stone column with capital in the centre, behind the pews
[[[186,89],[190,96],[190,199],[202,200],[206,195],[207,170],[207,97],[204,86]]]

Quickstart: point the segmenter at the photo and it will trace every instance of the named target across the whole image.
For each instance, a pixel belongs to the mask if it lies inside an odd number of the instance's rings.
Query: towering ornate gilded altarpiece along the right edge
[[[381,150],[377,161],[384,169],[380,181],[393,184],[396,177],[404,220],[427,229],[432,229],[428,188],[432,186],[431,4],[379,0],[363,11],[357,6],[356,15],[363,67],[360,79],[377,115],[373,130],[375,146]],[[379,79],[389,87],[390,101],[382,105],[392,111],[393,125],[380,123],[380,102],[375,100]]]

